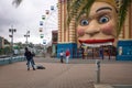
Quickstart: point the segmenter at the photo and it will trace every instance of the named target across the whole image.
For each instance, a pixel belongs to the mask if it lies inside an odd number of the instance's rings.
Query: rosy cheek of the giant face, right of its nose
[[[114,30],[116,29],[114,29],[112,23],[107,23],[107,24],[101,26],[101,32],[106,35],[113,35]]]

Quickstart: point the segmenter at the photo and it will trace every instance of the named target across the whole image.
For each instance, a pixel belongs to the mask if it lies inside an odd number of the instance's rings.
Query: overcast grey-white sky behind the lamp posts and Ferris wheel
[[[29,42],[38,44],[43,43],[43,38],[40,38],[41,33],[38,29],[43,28],[44,40],[48,42],[51,40],[51,31],[57,30],[56,4],[57,0],[23,0],[22,3],[15,8],[12,6],[12,0],[0,0],[0,36],[10,41],[9,29],[13,25],[13,28],[16,29],[14,43],[24,43],[24,34],[26,31],[30,31],[31,37]],[[51,11],[51,14],[47,15],[48,19],[43,21],[44,25],[40,26],[42,15],[45,15],[45,10],[51,10],[51,6],[55,7],[55,11]]]

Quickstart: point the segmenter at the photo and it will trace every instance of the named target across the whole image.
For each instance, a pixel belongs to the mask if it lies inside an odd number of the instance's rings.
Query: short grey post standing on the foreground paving
[[[100,61],[96,59],[96,81],[97,84],[100,82]]]

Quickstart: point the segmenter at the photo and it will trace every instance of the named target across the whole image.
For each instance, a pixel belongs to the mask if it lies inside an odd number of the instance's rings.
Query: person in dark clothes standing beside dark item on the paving
[[[25,47],[24,56],[26,57],[26,61],[28,61],[28,63],[26,63],[26,65],[28,65],[28,70],[30,70],[30,64],[32,65],[33,70],[35,70],[34,61],[33,61],[33,55],[32,55],[32,53],[28,50],[28,47]]]

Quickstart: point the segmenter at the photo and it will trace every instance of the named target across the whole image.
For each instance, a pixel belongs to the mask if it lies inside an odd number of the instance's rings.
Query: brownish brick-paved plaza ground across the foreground
[[[0,88],[132,88],[132,62],[101,59],[96,84],[95,59],[35,57],[46,69],[26,70],[26,62],[0,66]],[[128,87],[127,87],[128,86]]]

